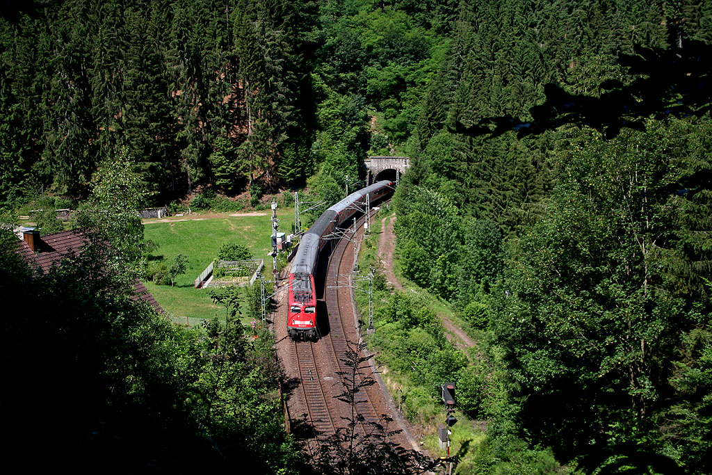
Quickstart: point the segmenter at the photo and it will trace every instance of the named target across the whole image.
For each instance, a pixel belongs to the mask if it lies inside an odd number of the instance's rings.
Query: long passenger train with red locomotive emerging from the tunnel
[[[327,236],[346,221],[360,214],[355,204],[365,204],[369,195],[371,205],[378,204],[393,192],[393,182],[376,182],[353,192],[327,209],[302,237],[292,261],[289,274],[289,308],[287,333],[295,340],[318,338],[317,306],[314,286],[319,254],[327,243]]]

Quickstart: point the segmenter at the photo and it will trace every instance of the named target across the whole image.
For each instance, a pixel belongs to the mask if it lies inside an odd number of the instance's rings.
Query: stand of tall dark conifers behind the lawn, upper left
[[[0,200],[83,196],[126,150],[155,202],[304,179],[308,4],[38,1],[0,18]],[[299,124],[299,125],[298,125]],[[296,128],[298,125],[298,129]]]

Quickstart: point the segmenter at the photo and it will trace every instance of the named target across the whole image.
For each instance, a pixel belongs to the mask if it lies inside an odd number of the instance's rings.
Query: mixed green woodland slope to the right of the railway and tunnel
[[[707,473],[708,2],[460,6],[395,202],[403,273],[484,330],[476,473]]]

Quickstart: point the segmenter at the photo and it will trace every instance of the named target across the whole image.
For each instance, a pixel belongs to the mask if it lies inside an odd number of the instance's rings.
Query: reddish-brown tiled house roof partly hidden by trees
[[[58,265],[62,259],[80,252],[86,242],[87,237],[78,231],[62,231],[61,233],[37,236],[35,239],[37,252],[32,251],[27,242],[21,240],[16,252],[31,266],[42,271],[42,273],[47,273],[52,266]],[[136,279],[133,288],[135,294],[131,296],[132,300],[148,303],[158,313],[164,313],[163,308],[141,281]]]

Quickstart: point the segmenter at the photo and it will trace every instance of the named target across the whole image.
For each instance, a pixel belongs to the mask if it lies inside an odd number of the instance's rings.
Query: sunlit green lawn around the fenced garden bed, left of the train
[[[263,216],[224,216],[206,219],[199,214],[185,216],[186,221],[149,220],[144,225],[145,237],[158,244],[150,262],[164,262],[167,266],[178,254],[188,256],[188,271],[179,276],[176,286],[157,286],[147,282],[146,287],[158,303],[170,313],[178,315],[178,323],[195,323],[195,319],[224,317],[224,309],[214,306],[209,289],[194,288],[194,281],[215,258],[220,246],[238,242],[250,249],[254,259],[265,259],[265,274],[272,271],[271,211]],[[294,222],[294,210],[278,209],[279,229],[289,233]],[[188,320],[189,319],[189,320]]]

